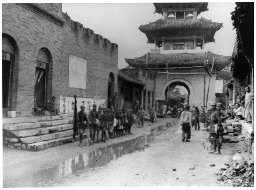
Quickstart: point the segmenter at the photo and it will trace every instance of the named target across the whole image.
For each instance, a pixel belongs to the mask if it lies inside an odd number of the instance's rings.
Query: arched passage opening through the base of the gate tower
[[[170,83],[165,89],[167,108],[189,105],[189,95],[190,89],[185,83],[180,81]]]

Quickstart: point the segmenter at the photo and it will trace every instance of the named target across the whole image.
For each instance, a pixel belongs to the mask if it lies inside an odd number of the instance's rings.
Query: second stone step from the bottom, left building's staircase
[[[47,135],[37,135],[37,136],[32,136],[32,137],[23,137],[20,138],[20,141],[23,144],[32,144],[32,143],[37,143],[41,141],[48,141],[52,140],[55,138],[63,138],[67,136],[73,135],[73,130],[67,130],[67,131],[61,131],[61,132],[55,132],[55,133],[50,133]]]

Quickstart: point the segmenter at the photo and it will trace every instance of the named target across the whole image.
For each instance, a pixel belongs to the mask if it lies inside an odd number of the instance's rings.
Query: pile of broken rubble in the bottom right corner
[[[254,162],[235,162],[233,165],[225,164],[215,173],[218,181],[223,181],[227,186],[233,187],[253,187],[254,186]]]

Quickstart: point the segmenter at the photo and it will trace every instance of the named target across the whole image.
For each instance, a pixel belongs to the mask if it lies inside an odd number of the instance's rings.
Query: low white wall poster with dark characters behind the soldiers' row
[[[80,111],[80,106],[84,105],[85,112],[90,112],[91,109],[93,109],[93,104],[97,105],[97,110],[99,106],[106,106],[105,105],[105,99],[100,98],[76,98],[77,101],[77,110]],[[67,97],[67,96],[61,96],[60,98],[60,112],[61,114],[64,113],[73,113],[74,112],[74,103],[75,98],[74,97]]]

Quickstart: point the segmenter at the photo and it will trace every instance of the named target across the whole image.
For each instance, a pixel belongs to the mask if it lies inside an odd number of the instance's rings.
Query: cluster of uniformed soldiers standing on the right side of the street
[[[221,144],[223,142],[224,121],[230,117],[222,109],[221,103],[212,103],[211,108],[207,109],[206,124],[209,130],[210,152],[213,154],[221,154]]]

